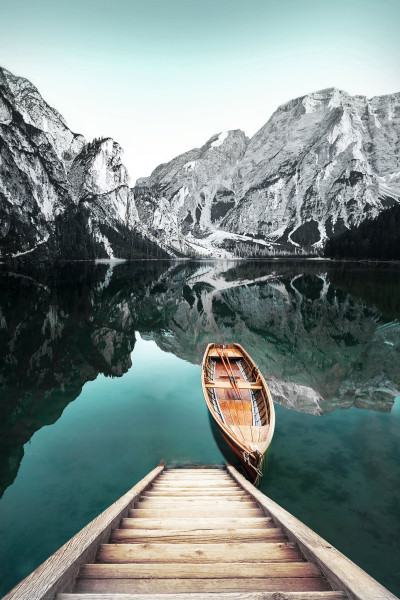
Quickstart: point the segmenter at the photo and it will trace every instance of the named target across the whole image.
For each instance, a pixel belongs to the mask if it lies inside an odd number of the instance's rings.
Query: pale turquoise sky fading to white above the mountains
[[[399,23],[400,0],[0,0],[0,65],[119,142],[133,185],[306,93],[400,91]]]

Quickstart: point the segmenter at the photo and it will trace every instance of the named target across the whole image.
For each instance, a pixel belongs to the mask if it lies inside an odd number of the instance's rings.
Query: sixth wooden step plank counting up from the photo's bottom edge
[[[121,521],[121,527],[133,529],[175,529],[192,531],[193,529],[225,529],[232,532],[235,529],[258,529],[265,527],[275,527],[271,517],[245,517],[243,519],[222,519],[215,518],[193,518],[193,519],[141,519],[125,518]]]

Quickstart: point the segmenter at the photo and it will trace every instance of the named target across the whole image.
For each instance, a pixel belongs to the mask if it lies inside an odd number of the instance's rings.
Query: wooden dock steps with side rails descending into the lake
[[[3,600],[396,600],[231,466],[158,466]]]

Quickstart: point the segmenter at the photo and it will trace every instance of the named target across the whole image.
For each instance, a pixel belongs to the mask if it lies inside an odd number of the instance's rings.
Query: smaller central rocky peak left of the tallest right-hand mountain
[[[139,179],[139,218],[183,254],[212,254],[211,240],[218,247],[213,232],[235,204],[233,177],[247,143],[240,130],[223,132]]]

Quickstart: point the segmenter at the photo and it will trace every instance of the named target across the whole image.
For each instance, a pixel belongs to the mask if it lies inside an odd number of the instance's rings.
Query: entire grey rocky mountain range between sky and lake
[[[88,143],[0,68],[2,258],[316,254],[399,200],[400,93],[297,98],[131,188],[116,142]]]

